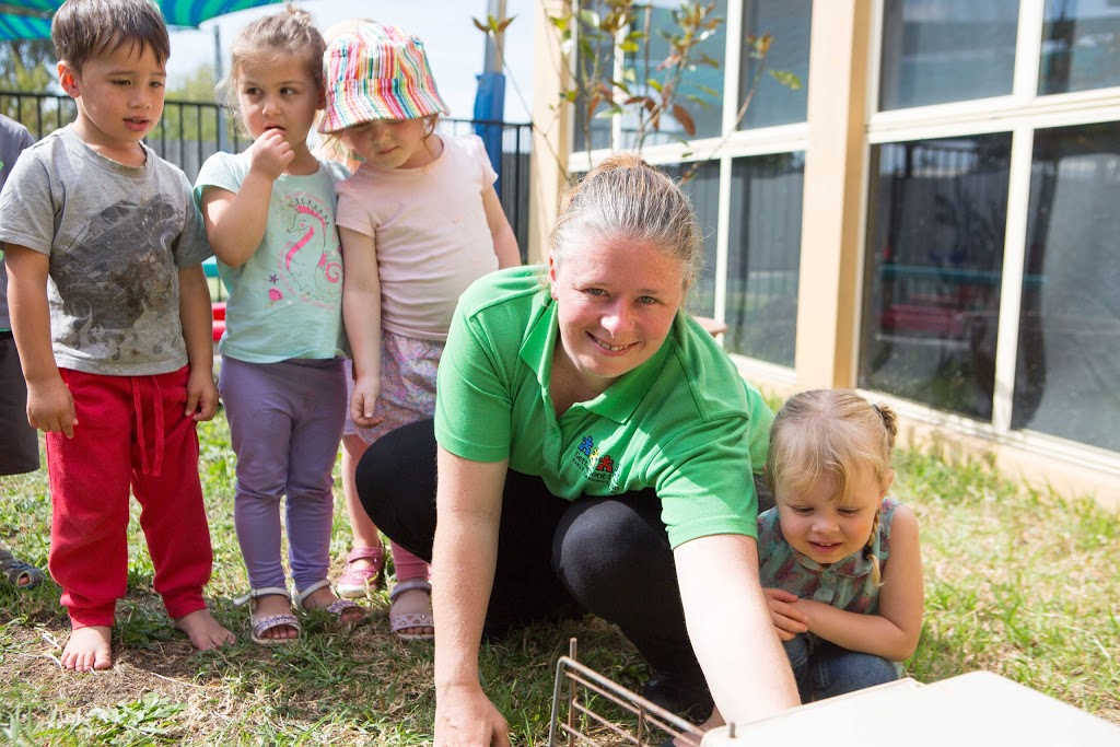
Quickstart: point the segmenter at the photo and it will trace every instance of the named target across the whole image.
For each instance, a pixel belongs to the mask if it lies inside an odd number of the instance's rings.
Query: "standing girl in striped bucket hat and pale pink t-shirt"
[[[356,24],[324,55],[319,131],[362,161],[338,185],[346,267],[343,316],[354,361],[344,487],[354,549],[340,594],[364,595],[380,570],[377,529],[354,489],[357,459],[401,426],[432,417],[436,366],[459,295],[521,263],[482,140],[436,133],[447,111],[423,43],[396,26]],[[392,544],[390,626],[402,641],[435,636],[428,564]]]

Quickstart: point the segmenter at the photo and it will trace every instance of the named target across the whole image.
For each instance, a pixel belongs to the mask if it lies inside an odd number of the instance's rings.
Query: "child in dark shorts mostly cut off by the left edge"
[[[0,114],[0,189],[16,159],[34,143],[26,127]],[[39,437],[27,424],[27,385],[8,319],[8,274],[0,263],[0,475],[22,475],[38,468]],[[0,582],[32,589],[43,582],[43,571],[0,545]]]

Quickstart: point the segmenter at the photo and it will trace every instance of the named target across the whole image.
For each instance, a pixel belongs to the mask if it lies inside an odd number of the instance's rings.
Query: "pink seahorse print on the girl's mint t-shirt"
[[[284,207],[291,216],[286,241],[291,243],[277,258],[269,300],[337,307],[343,292],[343,259],[332,211],[306,192],[292,193]]]

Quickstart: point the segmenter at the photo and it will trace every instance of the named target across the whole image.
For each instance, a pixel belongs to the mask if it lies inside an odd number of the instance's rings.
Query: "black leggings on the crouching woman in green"
[[[422,420],[379,439],[357,466],[370,519],[431,562],[436,436]],[[469,563],[470,558],[459,562]],[[566,501],[540,477],[510,470],[484,633],[588,611],[622,628],[657,671],[702,682],[684,627],[676,567],[652,489]]]

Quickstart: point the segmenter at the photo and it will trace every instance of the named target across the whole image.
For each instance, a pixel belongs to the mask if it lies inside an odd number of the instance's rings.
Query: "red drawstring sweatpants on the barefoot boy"
[[[198,480],[198,436],[183,414],[187,368],[155,376],[60,370],[74,438],[47,433],[54,515],[50,575],[75,628],[112,626],[128,580],[129,487],[171,617],[206,606],[213,553]]]

